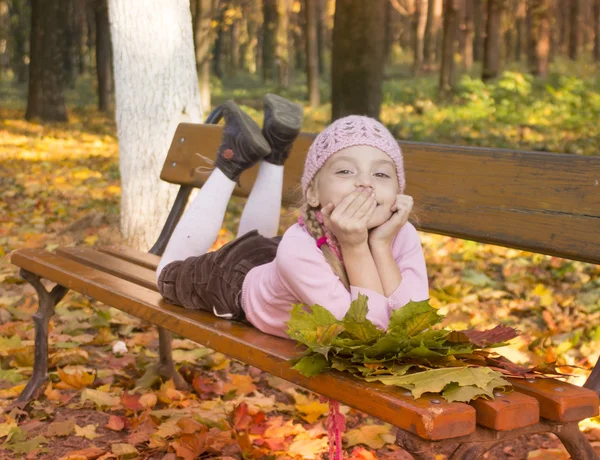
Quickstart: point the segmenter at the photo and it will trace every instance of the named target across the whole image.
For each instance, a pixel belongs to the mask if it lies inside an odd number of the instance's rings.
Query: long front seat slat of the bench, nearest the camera
[[[157,292],[58,254],[22,249],[12,253],[11,262],[424,439],[465,436],[475,430],[475,409],[467,404],[431,402],[435,397],[415,400],[400,388],[366,383],[341,372],[304,377],[288,363],[299,351],[293,341],[201,311],[170,305]]]

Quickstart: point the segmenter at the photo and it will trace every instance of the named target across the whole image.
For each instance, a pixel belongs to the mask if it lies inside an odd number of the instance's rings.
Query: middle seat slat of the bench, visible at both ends
[[[157,290],[153,270],[99,253],[91,248],[59,248],[56,252],[84,265],[116,275],[154,291]],[[143,255],[142,252],[139,254]],[[505,395],[502,401],[478,399],[472,405],[477,412],[477,423],[488,428],[512,430],[539,421],[537,400],[522,394]],[[519,414],[519,417],[515,417],[515,414]]]

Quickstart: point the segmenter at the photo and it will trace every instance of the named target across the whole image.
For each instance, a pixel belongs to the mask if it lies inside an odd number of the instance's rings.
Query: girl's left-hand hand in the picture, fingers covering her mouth
[[[337,206],[333,203],[326,205],[321,214],[325,226],[335,235],[340,246],[360,246],[368,242],[367,222],[376,206],[373,190],[359,187]]]

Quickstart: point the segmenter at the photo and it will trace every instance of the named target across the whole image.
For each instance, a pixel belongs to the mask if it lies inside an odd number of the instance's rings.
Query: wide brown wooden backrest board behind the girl
[[[161,178],[201,187],[222,129],[180,124]],[[285,204],[299,199],[314,138],[302,133],[294,143],[285,165]],[[420,230],[600,264],[600,157],[399,144]],[[248,196],[256,171],[242,175],[236,195]]]

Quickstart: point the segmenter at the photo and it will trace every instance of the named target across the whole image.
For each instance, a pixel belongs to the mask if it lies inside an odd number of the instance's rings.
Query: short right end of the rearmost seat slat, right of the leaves
[[[509,379],[515,391],[533,396],[540,415],[556,422],[574,422],[598,415],[598,394],[556,379]]]

